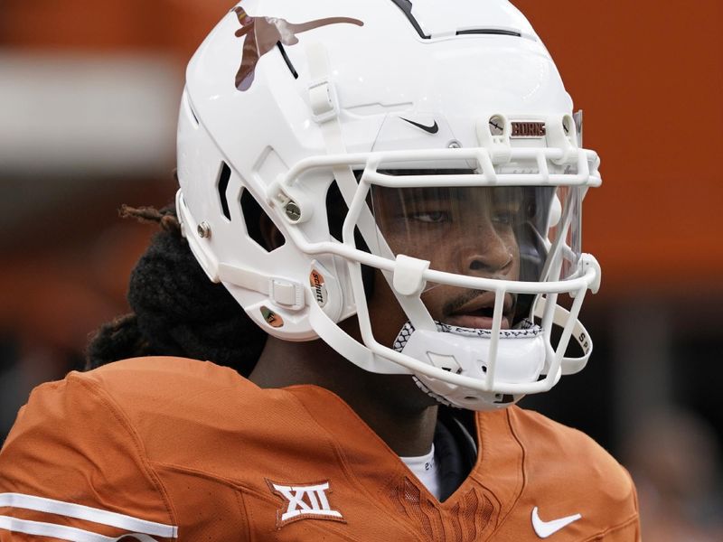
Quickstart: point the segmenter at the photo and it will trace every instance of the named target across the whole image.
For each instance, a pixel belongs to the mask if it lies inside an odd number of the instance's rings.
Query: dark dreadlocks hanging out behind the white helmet
[[[248,375],[267,334],[223,285],[211,283],[181,235],[175,208],[123,206],[123,218],[161,227],[130,276],[133,313],[102,325],[91,338],[86,369],[140,356],[211,360]]]

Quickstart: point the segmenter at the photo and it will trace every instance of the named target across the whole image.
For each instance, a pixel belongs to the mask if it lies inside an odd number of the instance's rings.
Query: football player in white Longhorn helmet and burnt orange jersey
[[[515,406],[592,350],[581,138],[506,0],[241,2],[174,206],[125,210],[163,228],[134,313],[0,453],[0,540],[639,540],[623,467]]]

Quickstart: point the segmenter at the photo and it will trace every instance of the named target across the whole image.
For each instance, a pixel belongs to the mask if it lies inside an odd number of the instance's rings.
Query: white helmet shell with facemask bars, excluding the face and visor
[[[186,81],[177,196],[184,235],[211,280],[222,282],[266,332],[291,341],[321,337],[364,369],[444,382],[437,395],[476,409],[499,406],[487,397],[517,400],[549,389],[585,365],[591,343],[577,313],[587,289],[599,284],[599,266],[577,252],[575,268],[561,275],[560,261],[577,248],[568,247],[570,236],[556,240],[549,231],[567,228],[573,203],[600,184],[599,160],[579,147],[558,70],[509,2],[244,0],[202,43]],[[391,253],[365,197],[371,185],[395,185],[384,164],[430,161],[467,166],[474,173],[463,176],[465,186],[577,191],[563,210],[559,194],[549,201],[559,216],[549,212],[538,233],[549,249],[544,276],[534,282],[452,276],[429,268],[428,260]],[[350,209],[343,238],[329,230],[333,181]],[[407,182],[455,180],[417,175]],[[282,245],[261,246],[241,204],[249,199],[281,232]],[[355,226],[369,251],[355,246]],[[555,322],[565,332],[557,348],[546,332],[533,356],[540,369],[512,371],[512,381],[503,360],[511,356],[497,356],[505,350],[500,303],[485,347],[486,376],[451,373],[374,339],[362,264],[384,272],[409,321],[431,333],[427,340],[437,332],[420,301],[427,281],[498,297],[535,295],[542,329]],[[556,307],[562,293],[576,296],[570,314]],[[336,325],[354,313],[362,342]],[[587,342],[580,359],[564,357],[571,337]]]

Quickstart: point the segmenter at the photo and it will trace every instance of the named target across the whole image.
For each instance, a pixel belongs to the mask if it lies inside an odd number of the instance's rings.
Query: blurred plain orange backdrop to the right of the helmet
[[[602,157],[586,247],[605,294],[723,290],[723,3],[515,2],[547,44]]]

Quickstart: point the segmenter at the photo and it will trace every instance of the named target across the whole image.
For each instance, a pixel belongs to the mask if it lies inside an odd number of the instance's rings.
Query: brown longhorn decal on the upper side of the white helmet
[[[313,30],[328,24],[349,23],[363,26],[358,19],[349,17],[327,17],[307,23],[289,23],[277,17],[251,17],[242,7],[237,5],[233,12],[239,17],[241,27],[236,31],[237,37],[246,36],[243,43],[241,65],[236,73],[236,88],[243,91],[251,87],[254,82],[254,72],[258,59],[271,51],[277,43],[296,45],[299,42],[297,33]]]

